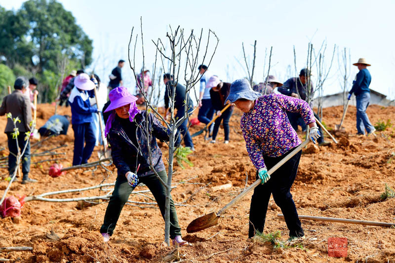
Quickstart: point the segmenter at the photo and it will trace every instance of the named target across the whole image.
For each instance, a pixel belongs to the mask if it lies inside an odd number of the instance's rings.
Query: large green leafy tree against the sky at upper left
[[[0,63],[14,75],[36,76],[39,102],[55,99],[61,61],[68,61],[66,76],[88,66],[92,50],[92,40],[56,0],[27,0],[17,11],[0,6]]]

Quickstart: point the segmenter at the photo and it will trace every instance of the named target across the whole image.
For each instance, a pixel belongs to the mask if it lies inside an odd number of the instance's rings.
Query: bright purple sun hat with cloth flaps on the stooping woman
[[[137,109],[136,101],[137,97],[131,95],[127,88],[125,87],[116,87],[115,89],[111,90],[109,95],[108,95],[111,103],[108,106],[108,108],[104,111],[105,113],[113,111],[119,107],[125,106],[130,104],[129,108],[129,121],[133,121],[134,116],[136,116],[137,113],[140,113],[140,110]],[[106,122],[106,128],[104,129],[104,135],[107,137],[107,134],[109,133],[112,123],[115,119],[115,112],[112,112],[110,116],[107,119]]]

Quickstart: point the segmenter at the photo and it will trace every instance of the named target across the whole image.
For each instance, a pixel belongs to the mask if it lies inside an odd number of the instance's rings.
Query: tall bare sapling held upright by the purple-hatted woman
[[[144,38],[143,38],[143,27],[142,27],[142,20],[140,24],[140,31],[141,31],[141,52],[140,56],[142,59],[142,64],[143,68],[145,65],[145,50],[144,50]],[[164,241],[168,245],[170,244],[170,239],[169,239],[169,230],[170,230],[170,192],[171,192],[171,182],[172,182],[172,176],[173,176],[173,162],[174,162],[174,154],[176,150],[179,148],[179,145],[176,144],[177,141],[180,139],[183,139],[183,136],[177,132],[177,129],[180,127],[180,125],[185,121],[188,120],[188,126],[187,129],[189,129],[190,123],[189,123],[189,115],[196,110],[196,107],[190,104],[190,101],[188,98],[190,97],[191,92],[193,93],[192,95],[195,96],[197,103],[199,102],[199,98],[197,97],[196,92],[194,92],[194,87],[196,84],[198,84],[200,77],[197,67],[200,64],[206,64],[207,67],[209,67],[211,60],[214,56],[214,53],[217,49],[219,39],[215,35],[215,33],[211,30],[208,30],[207,34],[207,39],[206,41],[203,40],[203,30],[200,31],[199,34],[195,34],[194,30],[191,30],[190,32],[186,32],[184,29],[182,29],[180,26],[178,26],[175,30],[172,29],[170,26],[170,32],[167,32],[166,34],[166,39],[161,39],[158,38],[157,40],[152,40],[152,42],[155,45],[155,62],[154,62],[154,67],[153,67],[153,75],[152,79],[156,79],[156,72],[158,68],[158,64],[160,65],[160,68],[163,69],[164,73],[168,73],[173,76],[173,81],[170,81],[167,83],[167,88],[165,89],[164,92],[167,92],[167,95],[169,97],[169,105],[168,105],[168,111],[169,114],[167,116],[167,112],[162,116],[159,111],[157,106],[155,105],[155,101],[152,100],[153,92],[149,93],[148,95],[145,94],[145,87],[138,85],[138,89],[144,96],[145,102],[146,102],[146,107],[147,107],[147,113],[152,113],[154,115],[154,121],[161,121],[164,125],[164,128],[166,129],[166,132],[169,135],[169,142],[166,142],[168,146],[168,158],[167,158],[167,164],[168,164],[168,173],[167,173],[167,182],[164,182],[161,180],[161,178],[158,175],[158,171],[155,170],[155,167],[153,165],[152,161],[152,149],[151,145],[148,144],[148,152],[149,154],[149,163],[150,163],[150,168],[152,171],[157,175],[158,179],[160,182],[164,185],[166,188],[166,199],[165,199],[165,229],[164,229]],[[138,35],[136,34],[135,36],[133,35],[133,30],[132,28],[131,34],[130,34],[130,39],[129,39],[129,52],[128,52],[128,60],[129,60],[129,66],[131,70],[133,71],[134,76],[136,77],[136,47],[137,47],[137,41],[138,41]],[[210,41],[210,38],[214,38],[214,44],[211,44],[212,41]],[[131,55],[131,44],[133,40],[133,54]],[[204,41],[204,43],[203,43]],[[165,42],[165,44],[163,44]],[[202,47],[205,44],[205,48]],[[212,52],[209,52],[209,50],[212,50]],[[210,53],[210,55],[208,54]],[[208,61],[208,63],[207,63]],[[139,63],[140,64],[140,63]],[[161,79],[161,76],[159,75],[159,81]],[[174,113],[174,106],[175,106],[175,91],[176,91],[176,86],[179,82],[184,84],[185,83],[185,97],[186,100],[184,101],[184,114],[176,118],[175,113]],[[136,83],[138,83],[136,79]],[[143,75],[143,80],[141,83],[144,83],[144,75]],[[144,85],[144,84],[143,84]],[[146,121],[142,122],[140,124],[140,128],[143,130],[143,133],[145,136],[148,138],[148,142],[150,141],[151,136],[153,136],[153,127],[152,124],[150,125],[150,114],[146,115]],[[180,115],[180,114],[178,114]],[[144,125],[144,126],[143,126]],[[138,149],[140,150],[140,148]]]

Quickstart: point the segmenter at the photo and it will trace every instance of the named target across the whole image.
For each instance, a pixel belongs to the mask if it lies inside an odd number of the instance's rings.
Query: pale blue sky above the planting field
[[[0,0],[6,9],[18,9],[23,0]],[[233,81],[246,75],[241,43],[252,54],[257,40],[255,81],[261,81],[265,48],[273,46],[272,74],[281,81],[293,63],[293,45],[297,52],[298,71],[306,65],[307,46],[311,39],[318,47],[327,40],[327,56],[333,45],[350,48],[351,60],[359,57],[372,64],[371,88],[395,97],[394,0],[284,0],[284,1],[130,1],[130,0],[61,0],[77,23],[93,39],[96,72],[107,81],[119,59],[127,60],[127,44],[132,26],[140,27],[143,17],[146,65],[154,62],[155,46],[151,39],[165,38],[168,25],[186,30],[213,30],[220,39],[219,49],[210,66],[210,75]],[[227,79],[229,65],[230,79]],[[137,68],[139,68],[138,66]],[[354,79],[357,73],[351,67]],[[128,67],[122,74],[125,84],[134,86]],[[337,56],[325,85],[325,93],[340,90]],[[351,87],[349,87],[350,89]]]

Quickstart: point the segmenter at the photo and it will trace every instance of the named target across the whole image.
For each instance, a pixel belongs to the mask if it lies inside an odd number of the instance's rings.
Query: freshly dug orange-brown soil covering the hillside
[[[54,106],[42,104],[38,108],[40,127],[53,114]],[[70,108],[61,107],[59,113],[71,114]],[[342,107],[324,109],[323,122],[329,129],[334,128],[335,124],[339,124],[342,113]],[[369,106],[367,113],[373,124],[387,119],[395,124],[395,107],[373,105]],[[229,144],[223,144],[222,129],[216,144],[204,141],[203,135],[195,137],[196,151],[189,155],[194,166],[184,164],[186,169],[175,166],[173,182],[176,188],[173,188],[172,196],[175,203],[179,204],[176,209],[182,234],[191,243],[191,246],[180,249],[184,260],[251,263],[395,262],[395,228],[302,221],[306,240],[296,248],[274,249],[270,243],[247,239],[252,192],[229,209],[218,225],[187,234],[185,229],[193,219],[218,211],[236,197],[245,188],[247,176],[247,185],[255,181],[256,170],[245,150],[239,128],[240,116],[241,112],[236,109],[230,121]],[[4,130],[5,122],[5,116],[1,116],[0,131]],[[345,132],[333,131],[338,136],[339,144],[319,148],[310,145],[302,154],[291,190],[299,214],[395,223],[395,198],[380,201],[385,184],[395,188],[394,127],[377,132],[377,138],[356,136],[356,108],[351,106],[343,126]],[[190,132],[201,128],[203,124],[192,127]],[[300,136],[303,138],[304,134],[300,133]],[[329,140],[326,135],[325,138]],[[55,151],[64,152],[65,155],[32,157],[32,162],[65,157],[67,159],[60,163],[64,167],[71,166],[74,144],[71,126],[67,135],[51,138],[43,142],[39,149],[33,148],[32,152],[42,152],[64,144],[67,147]],[[3,133],[0,133],[0,145],[7,148]],[[166,163],[166,144],[162,144],[161,148]],[[90,161],[98,160],[98,150],[100,148],[96,147]],[[7,152],[3,150],[1,154],[7,155]],[[111,165],[106,167],[108,171],[98,166],[67,171],[64,176],[51,178],[48,175],[51,164],[53,162],[32,165],[30,176],[39,182],[21,185],[19,178],[18,182],[11,185],[8,195],[31,196],[95,186],[102,182],[113,183],[117,176],[115,166]],[[7,170],[1,168],[0,175],[2,195],[7,186],[3,180],[8,176]],[[232,184],[232,188],[213,190],[213,187],[228,183]],[[145,189],[139,186],[136,191]],[[97,188],[47,197],[96,196],[105,192],[106,188]],[[130,196],[133,201],[155,203],[151,198],[151,193]],[[100,200],[99,204],[93,205],[81,202],[27,202],[20,218],[0,219],[0,247],[32,246],[34,249],[32,252],[0,253],[0,258],[11,262],[160,262],[172,252],[172,248],[162,245],[164,223],[156,204],[141,204],[140,207],[125,205],[114,235],[109,242],[103,243],[99,229],[106,208],[107,200]],[[282,240],[286,240],[288,230],[285,222],[276,217],[278,213],[280,210],[272,199],[264,232],[280,231]],[[50,235],[51,229],[60,239]],[[348,238],[347,258],[328,257],[329,237]]]

